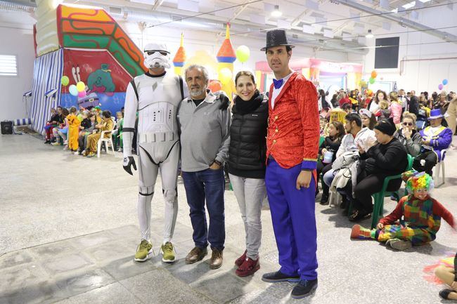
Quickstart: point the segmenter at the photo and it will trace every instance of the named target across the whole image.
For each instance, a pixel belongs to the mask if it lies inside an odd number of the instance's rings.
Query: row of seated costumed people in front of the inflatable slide
[[[124,109],[111,117],[109,110],[101,107],[91,109],[58,106],[51,109],[51,119],[47,121],[44,130],[46,141],[51,145],[63,145],[63,150],[69,150],[75,155],[94,157],[97,154],[98,140],[103,133],[105,138],[112,136],[113,149],[122,152],[122,126]],[[108,149],[108,147],[106,147]]]

